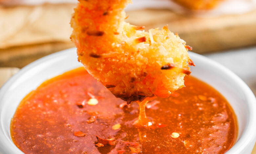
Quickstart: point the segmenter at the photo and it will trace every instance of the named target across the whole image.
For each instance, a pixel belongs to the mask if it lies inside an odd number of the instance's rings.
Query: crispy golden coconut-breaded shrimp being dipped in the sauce
[[[71,19],[71,40],[86,70],[127,103],[168,97],[184,87],[194,65],[178,34],[124,22],[130,0],[79,0]]]

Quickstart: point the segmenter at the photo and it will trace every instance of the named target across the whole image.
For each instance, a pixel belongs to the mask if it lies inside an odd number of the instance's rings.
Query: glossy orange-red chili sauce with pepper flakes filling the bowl
[[[194,77],[186,77],[185,85],[169,98],[149,102],[146,115],[153,123],[139,128],[133,125],[137,103],[125,105],[77,68],[44,82],[22,100],[11,120],[11,138],[26,154],[131,153],[124,141],[140,144],[142,153],[224,153],[237,135],[232,108]],[[96,105],[89,103],[92,98]],[[79,131],[82,135],[75,136]],[[98,147],[96,135],[116,143]]]

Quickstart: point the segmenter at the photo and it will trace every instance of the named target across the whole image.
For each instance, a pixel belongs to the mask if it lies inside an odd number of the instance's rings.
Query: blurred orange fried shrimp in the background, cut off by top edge
[[[223,0],[173,0],[191,10],[211,10]]]

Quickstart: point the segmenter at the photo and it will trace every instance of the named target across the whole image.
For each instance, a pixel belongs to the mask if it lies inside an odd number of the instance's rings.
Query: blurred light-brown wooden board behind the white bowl
[[[21,68],[47,54],[74,47],[69,40],[74,7],[74,4],[0,7],[0,21],[11,23],[2,27],[0,24],[0,67]],[[127,15],[127,22],[146,26],[146,30],[168,24],[197,53],[256,45],[256,10],[217,17],[153,9],[128,11]]]

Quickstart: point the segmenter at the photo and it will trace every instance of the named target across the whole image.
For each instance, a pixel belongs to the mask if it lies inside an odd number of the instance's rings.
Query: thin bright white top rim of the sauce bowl
[[[50,55],[47,55],[45,57],[42,57],[27,66],[23,67],[20,69],[19,72],[17,72],[15,75],[13,75],[1,88],[0,88],[0,153],[1,152],[22,152],[18,147],[14,146],[16,148],[13,148],[13,145],[7,144],[7,139],[6,139],[6,134],[4,133],[3,130],[3,124],[2,124],[2,105],[3,103],[1,102],[2,98],[5,95],[5,92],[9,87],[11,87],[12,83],[17,80],[21,75],[29,71],[31,68],[49,61],[50,59],[54,59],[58,56],[68,54],[69,52],[74,52],[76,48],[69,48],[66,50],[62,50],[56,53],[52,53]],[[189,55],[192,57],[197,57],[199,60],[203,61],[203,63],[210,63],[211,65],[214,65],[217,69],[219,69],[222,72],[225,72],[226,76],[232,78],[236,84],[244,91],[245,95],[245,102],[248,106],[248,122],[246,123],[245,130],[242,132],[241,137],[237,142],[226,152],[226,154],[233,154],[233,153],[241,153],[244,149],[246,149],[248,146],[250,146],[250,143],[255,143],[256,140],[256,131],[255,131],[255,119],[256,119],[256,98],[251,89],[245,84],[245,82],[240,79],[235,73],[233,73],[231,70],[227,69],[223,65],[194,52],[189,52]],[[224,96],[225,97],[225,96]],[[8,134],[10,136],[10,134]],[[13,142],[12,142],[13,143]],[[11,150],[11,151],[10,151]]]

